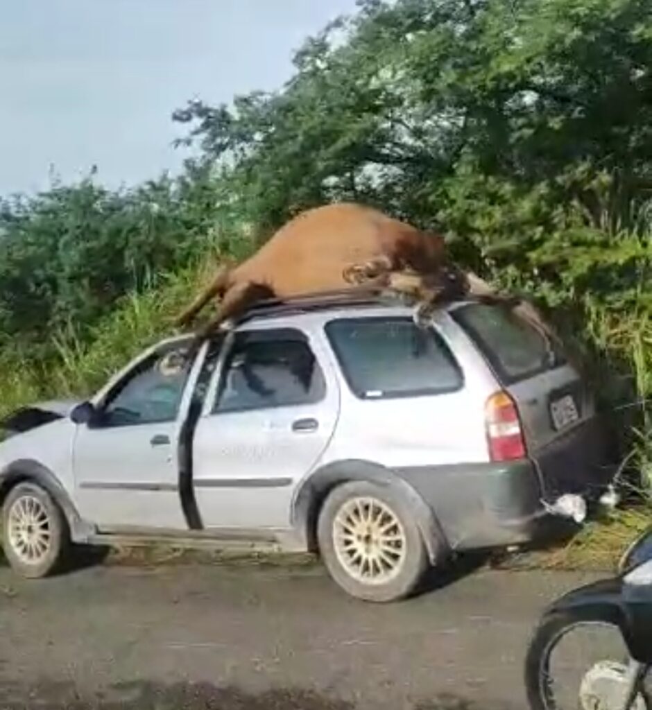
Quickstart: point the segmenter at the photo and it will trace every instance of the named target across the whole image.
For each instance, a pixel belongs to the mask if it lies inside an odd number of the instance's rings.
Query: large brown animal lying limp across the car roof
[[[303,212],[244,263],[220,269],[176,324],[188,326],[208,302],[221,298],[214,317],[197,334],[203,339],[266,298],[285,300],[357,283],[381,287],[393,271],[434,275],[445,263],[441,236],[359,204],[331,204]]]

